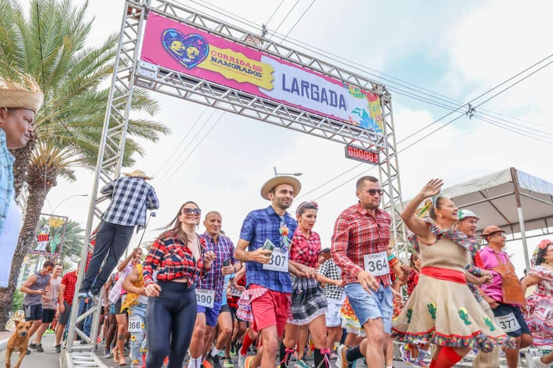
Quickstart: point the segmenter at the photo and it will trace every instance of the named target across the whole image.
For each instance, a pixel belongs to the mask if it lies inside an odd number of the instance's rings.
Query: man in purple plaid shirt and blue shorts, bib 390
[[[196,209],[196,208],[194,208]],[[222,368],[219,353],[225,348],[232,334],[232,317],[228,306],[221,308],[225,276],[232,275],[241,269],[240,262],[234,259],[234,244],[230,238],[221,234],[223,219],[217,211],[208,212],[204,219],[206,232],[202,238],[206,243],[206,251],[215,253],[216,258],[204,279],[197,281],[196,301],[197,316],[194,332],[190,341],[189,368],[199,368],[202,355],[212,368]],[[220,324],[219,335],[213,349],[207,353],[213,341],[217,322]]]

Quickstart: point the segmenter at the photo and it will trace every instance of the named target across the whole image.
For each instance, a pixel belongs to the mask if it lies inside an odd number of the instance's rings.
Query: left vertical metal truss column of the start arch
[[[149,9],[150,0],[132,1],[127,0],[123,8],[123,20],[119,34],[119,44],[117,46],[117,54],[114,60],[114,70],[109,89],[109,97],[106,106],[106,115],[102,129],[102,139],[98,149],[98,161],[96,163],[95,180],[92,187],[92,195],[90,199],[90,207],[88,208],[88,218],[86,222],[85,239],[90,240],[92,236],[92,222],[97,217],[101,220],[103,211],[98,207],[98,204],[105,201],[107,198],[98,191],[100,190],[100,180],[103,183],[115,180],[121,174],[121,166],[123,163],[123,153],[125,140],[127,135],[127,124],[129,120],[129,111],[131,109],[132,92],[135,79],[135,71],[138,65],[139,45],[141,31],[144,24],[145,15]],[[123,103],[124,102],[124,103]],[[107,148],[107,149],[106,149]],[[103,185],[103,184],[102,184]],[[78,292],[82,279],[85,275],[85,266],[88,253],[88,245],[83,246],[81,251],[81,264],[77,279],[76,291]],[[71,309],[71,317],[69,322],[69,333],[67,334],[66,348],[62,355],[72,353],[76,350],[91,351],[96,345],[96,333],[98,330],[98,321],[100,318],[100,306],[102,292],[98,294],[98,301],[92,307],[93,322],[91,339],[86,345],[74,346],[73,341],[76,334],[82,335],[82,331],[76,327],[76,322],[79,312],[79,299],[77,292],[73,298],[73,307]],[[72,366],[73,362],[62,359],[62,366]]]

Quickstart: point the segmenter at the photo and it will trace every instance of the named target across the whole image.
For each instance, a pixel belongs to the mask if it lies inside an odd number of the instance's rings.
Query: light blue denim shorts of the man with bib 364
[[[384,332],[392,332],[394,304],[391,287],[380,285],[377,292],[368,293],[359,283],[349,283],[344,289],[359,324],[363,326],[369,319],[382,318]]]

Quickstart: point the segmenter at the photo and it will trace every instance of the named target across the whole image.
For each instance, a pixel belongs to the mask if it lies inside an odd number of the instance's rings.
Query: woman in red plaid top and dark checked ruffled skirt
[[[309,278],[292,277],[291,317],[288,318],[284,340],[280,345],[280,367],[288,365],[291,354],[298,343],[300,326],[309,325],[315,346],[315,368],[330,368],[330,348],[326,343],[325,313],[327,302],[325,291],[319,281],[329,285],[342,286],[342,280],[331,280],[317,274],[317,263],[321,250],[321,238],[312,229],[317,220],[318,207],[315,202],[303,202],[296,209],[298,228],[290,245],[290,262],[309,267],[305,273]],[[318,281],[317,281],[318,280]],[[298,356],[296,368],[309,368],[302,356]]]

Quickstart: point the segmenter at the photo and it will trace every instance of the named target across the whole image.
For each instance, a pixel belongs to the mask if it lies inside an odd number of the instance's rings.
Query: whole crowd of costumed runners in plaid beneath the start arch
[[[221,213],[189,201],[147,254],[137,248],[117,264],[146,209],[159,207],[148,179],[137,170],[102,189],[112,201],[80,290],[77,272],[61,277],[51,261],[23,283],[25,317],[37,321],[31,349],[43,351],[56,321],[61,350],[74,293],[80,313],[101,303],[93,338],[121,366],[231,368],[237,356],[239,368],[285,368],[293,357],[295,368],[382,368],[393,366],[396,341],[415,366],[431,356],[431,368],[451,367],[474,351],[474,367],[498,367],[504,355],[514,368],[520,349],[553,344],[553,241],[536,246],[519,280],[504,230],[489,225],[478,241],[481,219],[440,196],[441,180],[401,214],[414,250],[405,262],[393,253],[377,178],[359,178],[358,202],[338,215],[325,248],[314,230],[319,206],[302,202],[290,214],[300,182],[277,176],[260,190],[269,206],[248,213],[236,245]],[[89,336],[90,323],[81,326]],[[553,356],[534,361],[549,367]]]

